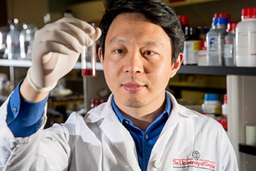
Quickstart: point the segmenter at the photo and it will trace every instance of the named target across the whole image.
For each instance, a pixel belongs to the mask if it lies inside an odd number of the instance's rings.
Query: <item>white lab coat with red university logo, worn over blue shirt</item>
[[[222,126],[177,104],[154,145],[148,171],[236,171],[236,155]],[[64,124],[43,126],[14,138],[0,108],[0,170],[139,171],[135,144],[111,107],[111,98],[84,118],[73,112]],[[46,115],[42,118],[46,122]],[[43,124],[43,125],[44,125]]]

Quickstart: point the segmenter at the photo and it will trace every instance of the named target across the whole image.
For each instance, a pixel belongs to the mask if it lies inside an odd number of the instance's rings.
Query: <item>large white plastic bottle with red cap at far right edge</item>
[[[236,25],[236,66],[256,67],[256,7],[242,9]]]

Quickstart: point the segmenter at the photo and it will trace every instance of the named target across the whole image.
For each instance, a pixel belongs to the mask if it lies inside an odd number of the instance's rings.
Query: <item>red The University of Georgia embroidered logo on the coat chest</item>
[[[198,151],[193,151],[193,158],[173,158],[173,168],[195,167],[198,169],[215,170],[215,162],[200,158]]]

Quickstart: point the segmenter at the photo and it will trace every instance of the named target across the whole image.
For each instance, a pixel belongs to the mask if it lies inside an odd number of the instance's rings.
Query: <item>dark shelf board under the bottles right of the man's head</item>
[[[201,74],[201,75],[256,75],[256,67],[211,67],[182,65],[179,74]]]

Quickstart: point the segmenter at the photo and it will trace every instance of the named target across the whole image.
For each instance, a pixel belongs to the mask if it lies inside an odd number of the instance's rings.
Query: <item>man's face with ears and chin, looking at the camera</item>
[[[106,83],[124,112],[158,109],[165,101],[169,78],[180,67],[180,56],[172,64],[168,35],[138,13],[117,16],[106,35],[104,59],[99,49]]]

